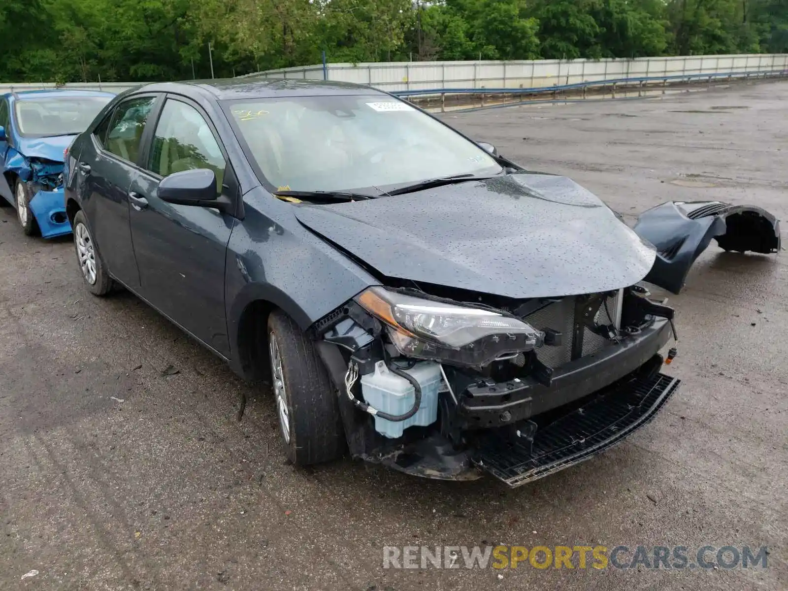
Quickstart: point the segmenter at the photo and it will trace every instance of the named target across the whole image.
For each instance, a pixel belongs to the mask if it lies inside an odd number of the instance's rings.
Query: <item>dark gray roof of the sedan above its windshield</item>
[[[385,95],[376,88],[325,80],[292,80],[281,78],[225,78],[219,80],[187,80],[146,84],[136,91],[181,92],[195,91],[213,96],[218,100],[270,99],[277,96],[323,96],[323,95]]]

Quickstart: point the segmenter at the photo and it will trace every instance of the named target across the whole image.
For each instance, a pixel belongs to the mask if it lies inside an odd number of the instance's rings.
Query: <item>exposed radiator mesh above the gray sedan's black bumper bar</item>
[[[619,300],[619,293],[606,299],[607,310],[604,306],[600,307],[594,322],[598,325],[615,324],[615,308]],[[537,359],[548,367],[560,367],[564,363],[571,361],[572,350],[574,348],[574,304],[575,296],[567,296],[559,302],[550,303],[547,306],[529,314],[524,318],[533,328],[537,330],[555,329],[563,333],[563,344],[558,347],[545,345],[537,349]],[[599,352],[601,348],[610,344],[604,336],[599,336],[589,329],[583,331],[582,355],[587,357]]]

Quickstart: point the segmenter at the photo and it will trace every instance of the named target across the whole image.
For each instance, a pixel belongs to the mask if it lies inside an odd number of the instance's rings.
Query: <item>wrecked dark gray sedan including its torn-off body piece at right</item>
[[[712,238],[779,249],[757,208],[668,203],[630,229],[349,84],[151,84],[76,140],[65,177],[87,288],[125,286],[272,384],[298,465],[349,451],[516,486],[588,459],[678,388],[674,310],[641,281],[678,291]]]

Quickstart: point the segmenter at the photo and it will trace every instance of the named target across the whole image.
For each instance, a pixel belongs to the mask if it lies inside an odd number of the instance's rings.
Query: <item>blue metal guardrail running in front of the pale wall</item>
[[[487,95],[543,95],[543,94],[550,94],[557,95],[559,92],[566,92],[566,91],[577,91],[582,90],[582,98],[585,99],[586,91],[589,88],[594,87],[611,87],[611,94],[615,99],[615,91],[620,88],[632,88],[637,87],[638,89],[646,89],[649,87],[649,84],[659,84],[660,82],[663,84],[663,92],[667,91],[667,85],[669,83],[678,82],[679,84],[685,82],[687,84],[692,83],[693,81],[704,81],[708,80],[709,84],[714,79],[727,79],[727,80],[734,80],[734,79],[745,79],[750,80],[753,78],[768,78],[768,77],[781,77],[781,76],[788,76],[788,69],[780,69],[780,70],[771,70],[771,71],[753,71],[753,72],[716,72],[716,73],[707,73],[707,74],[674,74],[671,76],[643,76],[639,78],[618,78],[613,80],[589,80],[587,82],[580,82],[575,84],[561,84],[558,86],[546,86],[546,87],[535,87],[535,88],[437,88],[437,89],[430,89],[430,88],[422,88],[418,90],[406,90],[406,91],[392,91],[391,94],[395,96],[400,96],[403,98],[406,97],[437,97],[440,96],[441,98],[441,110],[444,109],[444,102],[445,97],[447,95],[482,95],[481,105],[484,106],[484,98]],[[530,102],[530,101],[519,101],[516,104],[521,104],[522,102]],[[543,102],[542,100],[533,101],[533,102]]]

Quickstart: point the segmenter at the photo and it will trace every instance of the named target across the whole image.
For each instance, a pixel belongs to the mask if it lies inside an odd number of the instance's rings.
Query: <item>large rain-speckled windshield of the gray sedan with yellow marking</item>
[[[476,144],[388,96],[246,99],[226,106],[247,156],[275,189],[380,188],[502,170]]]

